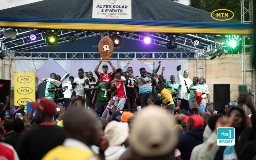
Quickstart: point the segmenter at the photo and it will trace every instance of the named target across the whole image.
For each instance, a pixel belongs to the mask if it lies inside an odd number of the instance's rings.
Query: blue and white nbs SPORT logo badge
[[[217,145],[234,146],[235,128],[217,128]]]

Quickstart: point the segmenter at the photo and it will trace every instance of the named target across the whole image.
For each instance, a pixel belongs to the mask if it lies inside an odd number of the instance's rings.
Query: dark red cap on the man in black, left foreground
[[[38,100],[37,102],[30,103],[30,108],[40,109],[47,115],[54,116],[56,104],[54,101],[43,97],[40,100]]]

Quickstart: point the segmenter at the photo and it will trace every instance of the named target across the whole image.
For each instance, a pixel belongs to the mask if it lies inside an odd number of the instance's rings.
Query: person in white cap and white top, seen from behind
[[[109,140],[109,146],[104,152],[105,159],[118,160],[126,150],[122,144],[129,137],[128,123],[109,122],[104,130],[104,134]]]

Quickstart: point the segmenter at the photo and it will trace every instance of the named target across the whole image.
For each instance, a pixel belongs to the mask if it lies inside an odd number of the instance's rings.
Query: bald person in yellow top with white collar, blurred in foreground
[[[99,158],[90,149],[94,144],[100,144],[100,157],[104,159],[108,140],[92,113],[84,108],[74,108],[64,116],[63,125],[68,138],[62,145],[48,152],[42,160],[97,160]]]

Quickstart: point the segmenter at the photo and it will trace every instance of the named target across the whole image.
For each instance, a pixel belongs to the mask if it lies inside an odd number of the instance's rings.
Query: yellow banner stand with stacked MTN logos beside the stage
[[[24,105],[27,112],[27,103],[36,101],[36,73],[14,72],[14,105]]]

